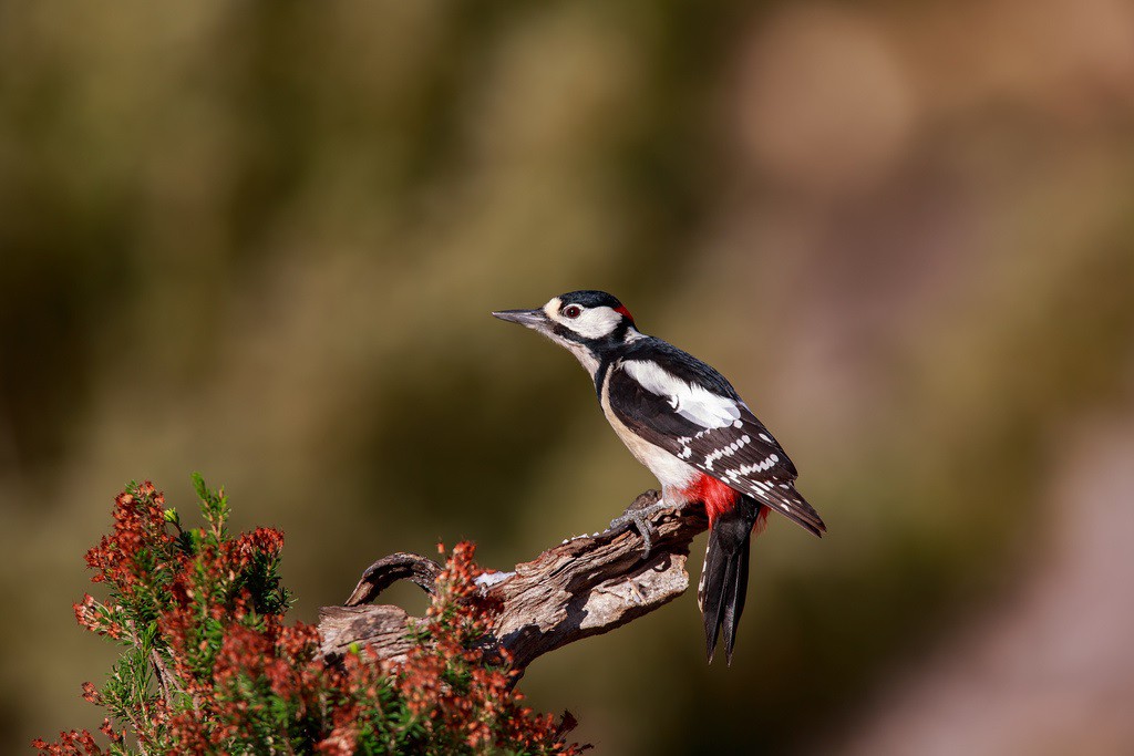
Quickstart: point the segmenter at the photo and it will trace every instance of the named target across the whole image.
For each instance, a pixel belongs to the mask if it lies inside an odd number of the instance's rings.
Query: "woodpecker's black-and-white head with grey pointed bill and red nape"
[[[642,338],[629,311],[606,291],[570,291],[536,309],[492,314],[542,333],[574,354],[592,375],[603,352]]]

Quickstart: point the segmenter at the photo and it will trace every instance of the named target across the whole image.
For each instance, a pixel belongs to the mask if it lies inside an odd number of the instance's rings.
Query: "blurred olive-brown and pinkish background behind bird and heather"
[[[532,705],[601,754],[1134,753],[1123,0],[0,5],[0,749],[101,721],[70,605],[132,478],[282,528],[306,621],[600,529],[652,478],[488,315],[577,288],[830,533],[759,540],[731,669],[686,595]]]

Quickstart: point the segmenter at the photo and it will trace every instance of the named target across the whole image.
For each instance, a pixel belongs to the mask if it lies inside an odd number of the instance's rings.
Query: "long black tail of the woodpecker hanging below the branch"
[[[739,496],[736,504],[714,518],[709,529],[705,564],[697,586],[697,603],[705,621],[705,649],[712,662],[717,639],[725,630],[725,653],[733,663],[736,628],[744,611],[748,587],[748,544],[753,527],[763,524],[768,509],[751,496]]]

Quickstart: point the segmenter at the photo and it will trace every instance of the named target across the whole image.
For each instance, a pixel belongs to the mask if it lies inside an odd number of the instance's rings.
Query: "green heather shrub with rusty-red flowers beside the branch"
[[[86,730],[35,740],[49,754],[576,754],[557,721],[523,705],[485,643],[474,546],[459,543],[406,661],[369,647],[328,662],[315,627],[285,625],[284,536],[227,530],[228,499],[194,475],[204,525],[187,528],[146,482],[113,509],[86,561],[105,597],[75,604],[83,627],[122,646],[101,688],[104,745]],[[442,550],[443,553],[443,550]]]

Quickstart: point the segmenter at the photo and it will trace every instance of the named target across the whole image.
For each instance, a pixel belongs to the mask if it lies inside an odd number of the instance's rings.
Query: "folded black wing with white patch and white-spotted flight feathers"
[[[643,359],[649,357],[643,355]],[[677,391],[657,392],[658,385],[643,385],[627,373],[625,362],[618,363],[610,367],[607,388],[618,419],[650,443],[811,533],[827,532],[819,513],[795,490],[797,473],[784,448],[719,373],[688,356],[677,364],[667,360],[665,372],[705,389],[704,393],[684,394],[679,385]],[[705,380],[706,375],[712,380]],[[696,405],[699,399],[704,408]]]

